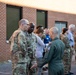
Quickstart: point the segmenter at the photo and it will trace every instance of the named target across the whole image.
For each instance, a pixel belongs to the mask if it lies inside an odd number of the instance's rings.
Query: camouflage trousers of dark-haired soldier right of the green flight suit
[[[64,56],[63,56],[63,63],[64,63],[64,73],[68,74],[70,71],[70,65],[71,65],[71,54],[70,54],[70,48],[66,49],[64,51]]]

